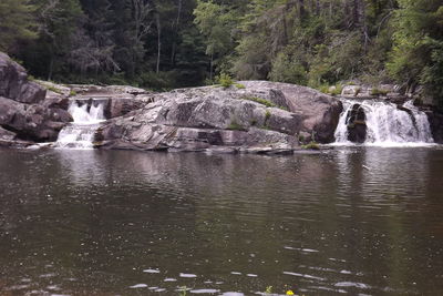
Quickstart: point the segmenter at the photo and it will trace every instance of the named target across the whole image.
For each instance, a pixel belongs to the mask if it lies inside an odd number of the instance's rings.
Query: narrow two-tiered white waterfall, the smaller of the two
[[[100,123],[105,121],[104,103],[99,100],[72,101],[68,109],[73,122],[59,133],[55,146],[61,149],[93,149]]]

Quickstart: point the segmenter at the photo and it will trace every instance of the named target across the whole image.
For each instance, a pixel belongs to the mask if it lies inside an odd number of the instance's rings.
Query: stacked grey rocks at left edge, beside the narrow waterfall
[[[56,139],[72,118],[55,101],[45,101],[45,94],[21,65],[0,52],[0,144]]]

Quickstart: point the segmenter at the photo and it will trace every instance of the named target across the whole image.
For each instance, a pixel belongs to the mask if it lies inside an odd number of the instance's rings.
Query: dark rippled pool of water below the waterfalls
[[[0,295],[443,295],[441,149],[1,150],[0,169]]]

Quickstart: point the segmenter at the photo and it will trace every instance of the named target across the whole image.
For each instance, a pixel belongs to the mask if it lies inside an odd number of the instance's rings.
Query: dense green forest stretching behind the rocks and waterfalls
[[[442,0],[2,0],[0,50],[56,82],[357,81],[443,102]]]

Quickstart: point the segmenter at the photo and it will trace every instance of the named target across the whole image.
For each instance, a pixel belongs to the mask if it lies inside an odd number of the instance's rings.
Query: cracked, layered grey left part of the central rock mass
[[[269,94],[269,92],[267,92]],[[302,115],[255,102],[253,92],[197,88],[157,94],[154,102],[107,121],[96,140],[101,147],[200,151],[286,152],[297,145]],[[260,99],[269,99],[261,95]]]

